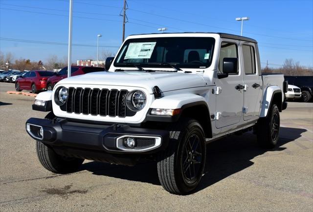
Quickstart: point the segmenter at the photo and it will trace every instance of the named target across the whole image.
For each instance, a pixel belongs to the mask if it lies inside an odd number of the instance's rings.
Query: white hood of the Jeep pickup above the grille
[[[199,74],[161,71],[93,72],[63,79],[58,84],[142,87],[151,94],[154,86],[158,86],[161,92],[205,86]]]

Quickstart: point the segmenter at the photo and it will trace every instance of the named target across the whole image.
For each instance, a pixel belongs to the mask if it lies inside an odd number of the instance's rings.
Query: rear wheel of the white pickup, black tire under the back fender
[[[257,122],[257,141],[263,148],[274,148],[279,138],[280,117],[276,104],[268,111],[268,116]]]

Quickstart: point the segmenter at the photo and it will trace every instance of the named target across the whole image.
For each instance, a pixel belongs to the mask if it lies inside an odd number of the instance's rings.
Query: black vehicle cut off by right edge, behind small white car
[[[288,81],[289,85],[294,85],[301,89],[301,99],[303,102],[312,100],[313,76],[285,76],[285,80]]]

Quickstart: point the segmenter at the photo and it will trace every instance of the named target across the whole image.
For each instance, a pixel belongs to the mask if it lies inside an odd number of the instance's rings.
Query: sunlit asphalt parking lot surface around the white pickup
[[[25,132],[28,118],[45,113],[12,90],[0,83],[1,211],[313,211],[313,103],[289,103],[275,149],[258,148],[251,133],[208,144],[201,187],[178,196],[160,186],[154,163],[46,171]]]

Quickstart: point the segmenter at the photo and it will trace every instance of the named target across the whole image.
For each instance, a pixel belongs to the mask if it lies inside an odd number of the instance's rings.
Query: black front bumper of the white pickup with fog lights
[[[164,149],[169,140],[167,130],[135,128],[123,124],[78,123],[66,119],[29,118],[26,121],[26,131],[33,139],[67,152],[71,149],[81,149],[111,154],[150,154]],[[155,143],[128,149],[121,146],[125,137],[135,140],[138,138],[138,141],[150,139]]]

